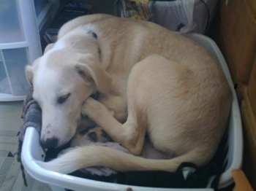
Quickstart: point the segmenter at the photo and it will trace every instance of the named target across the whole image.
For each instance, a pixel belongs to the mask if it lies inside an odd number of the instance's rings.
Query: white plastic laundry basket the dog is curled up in
[[[222,66],[225,76],[227,77],[230,87],[233,91],[233,104],[232,110],[230,112],[230,120],[228,125],[228,151],[227,158],[223,163],[227,163],[224,173],[221,175],[219,180],[219,188],[227,187],[233,183],[231,171],[234,168],[241,168],[242,162],[242,127],[241,127],[241,117],[239,112],[238,100],[236,93],[233,90],[233,82],[230,77],[230,72],[227,68],[225,60],[222,53],[219,51],[217,45],[208,37],[200,34],[188,34],[189,38],[194,39],[199,42],[204,47],[206,47],[219,64]],[[22,161],[26,168],[26,171],[40,182],[45,182],[49,184],[52,190],[65,190],[65,188],[71,190],[127,190],[131,188],[132,190],[180,190],[180,189],[166,189],[166,188],[154,188],[154,187],[137,187],[124,184],[114,184],[94,181],[91,179],[83,179],[76,176],[70,176],[67,174],[59,174],[53,171],[48,171],[37,165],[37,160],[43,160],[40,152],[39,146],[39,134],[37,131],[30,127],[26,130],[25,139],[23,141],[22,148]],[[86,159],[85,159],[86,160]],[[209,180],[210,182],[210,180]],[[182,190],[212,190],[211,188],[205,189],[182,189]]]

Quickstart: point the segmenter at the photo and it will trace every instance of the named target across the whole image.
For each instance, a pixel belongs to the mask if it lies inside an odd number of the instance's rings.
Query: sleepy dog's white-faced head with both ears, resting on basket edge
[[[97,43],[88,35],[80,42],[71,38],[49,45],[26,67],[33,97],[42,109],[42,147],[66,144],[80,124],[84,101],[95,91],[108,93],[110,77],[100,64]]]

